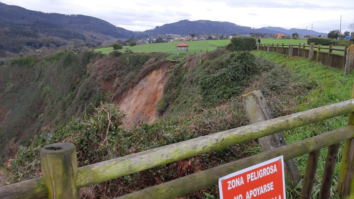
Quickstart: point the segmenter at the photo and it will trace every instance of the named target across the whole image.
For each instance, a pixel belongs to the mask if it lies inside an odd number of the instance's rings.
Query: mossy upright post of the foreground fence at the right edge
[[[349,46],[348,54],[349,52],[352,53],[353,61],[354,45]],[[347,59],[348,57],[347,55]],[[352,87],[352,98],[354,98],[354,84]],[[348,115],[348,125],[354,125],[354,112]],[[354,198],[354,138],[344,141],[337,191],[343,199]]]

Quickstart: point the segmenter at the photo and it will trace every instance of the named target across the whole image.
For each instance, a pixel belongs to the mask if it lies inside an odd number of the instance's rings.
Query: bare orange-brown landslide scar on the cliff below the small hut
[[[169,77],[166,69],[175,65],[165,62],[159,69],[155,69],[131,87],[122,95],[118,102],[121,110],[127,114],[126,127],[130,129],[142,122],[152,123],[156,115],[156,104],[161,98],[165,82]]]

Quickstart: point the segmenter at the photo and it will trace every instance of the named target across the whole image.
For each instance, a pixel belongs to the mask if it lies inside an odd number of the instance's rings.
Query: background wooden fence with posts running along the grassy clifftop
[[[268,47],[269,46],[269,47]],[[309,47],[307,49],[306,47]],[[327,49],[328,52],[321,51],[321,49]],[[352,48],[351,48],[352,49]],[[309,60],[316,60],[322,64],[334,68],[344,69],[346,64],[348,70],[353,68],[354,57],[348,55],[348,46],[344,49],[335,48],[333,45],[329,47],[321,47],[319,44],[315,46],[314,43],[307,44],[257,44],[257,50],[264,50],[267,52],[278,52],[290,56],[306,57]],[[334,51],[342,51],[344,54],[335,53]],[[354,50],[354,49],[352,49]],[[353,59],[353,60],[351,60]],[[348,63],[347,63],[348,62]]]

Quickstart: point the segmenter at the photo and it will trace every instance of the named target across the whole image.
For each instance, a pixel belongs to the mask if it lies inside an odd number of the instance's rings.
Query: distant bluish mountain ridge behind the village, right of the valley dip
[[[297,29],[292,28],[290,30],[280,27],[263,27],[263,28],[251,28],[246,26],[237,25],[230,22],[219,22],[219,21],[209,21],[209,20],[198,20],[198,21],[189,21],[181,20],[175,23],[168,23],[165,25],[157,26],[154,29],[146,30],[148,33],[155,34],[209,34],[209,33],[218,33],[218,34],[250,34],[250,33],[284,33],[286,35],[292,35],[293,33],[305,35],[306,29]],[[310,30],[307,30],[307,34],[310,34]],[[327,33],[319,33],[312,31],[312,34],[315,36],[318,35],[327,35]]]

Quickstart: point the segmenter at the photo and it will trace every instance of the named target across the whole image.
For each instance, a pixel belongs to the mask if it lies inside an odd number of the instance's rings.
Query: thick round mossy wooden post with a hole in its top
[[[43,147],[41,163],[48,199],[79,198],[75,185],[78,162],[74,144],[62,142]]]

